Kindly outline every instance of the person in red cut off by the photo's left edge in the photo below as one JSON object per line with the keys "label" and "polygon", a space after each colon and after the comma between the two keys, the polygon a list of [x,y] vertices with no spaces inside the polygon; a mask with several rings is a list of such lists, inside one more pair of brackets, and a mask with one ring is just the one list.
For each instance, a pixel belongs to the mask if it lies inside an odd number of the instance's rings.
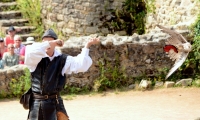
{"label": "person in red cut off by the photo's left edge", "polygon": [[3,57],[3,54],[4,52],[6,52],[7,49],[5,47],[5,44],[4,44],[4,39],[2,37],[0,37],[0,69],[3,69],[4,65],[3,65],[3,62],[2,62],[2,57]]}

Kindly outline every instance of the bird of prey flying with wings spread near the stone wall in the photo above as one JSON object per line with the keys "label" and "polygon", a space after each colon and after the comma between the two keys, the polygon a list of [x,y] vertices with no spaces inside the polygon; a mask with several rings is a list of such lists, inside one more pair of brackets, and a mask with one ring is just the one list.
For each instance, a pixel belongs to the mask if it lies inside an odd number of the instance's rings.
{"label": "bird of prey flying with wings spread near the stone wall", "polygon": [[157,25],[162,32],[170,35],[166,40],[164,51],[168,54],[168,57],[175,61],[172,68],[169,70],[165,79],[167,79],[172,73],[174,73],[186,60],[189,52],[192,50],[192,45],[178,32],[165,28],[161,25]]}

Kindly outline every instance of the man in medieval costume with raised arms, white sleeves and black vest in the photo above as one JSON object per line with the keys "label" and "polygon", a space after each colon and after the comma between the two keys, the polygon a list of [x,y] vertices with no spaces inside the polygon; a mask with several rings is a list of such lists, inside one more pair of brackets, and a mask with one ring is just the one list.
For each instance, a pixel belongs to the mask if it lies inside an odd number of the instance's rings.
{"label": "man in medieval costume with raised arms, white sleeves and black vest", "polygon": [[29,120],[69,120],[59,93],[66,83],[66,74],[85,72],[92,65],[89,47],[99,43],[90,39],[77,56],[61,54],[55,47],[63,41],[49,29],[42,36],[42,43],[26,47],[25,65],[31,72]]}

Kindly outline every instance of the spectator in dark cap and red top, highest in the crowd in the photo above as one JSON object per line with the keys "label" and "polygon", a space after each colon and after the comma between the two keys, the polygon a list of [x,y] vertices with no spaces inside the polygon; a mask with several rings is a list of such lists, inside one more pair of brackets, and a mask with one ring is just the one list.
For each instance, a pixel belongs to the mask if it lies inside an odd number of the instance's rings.
{"label": "spectator in dark cap and red top, highest in the crowd", "polygon": [[12,43],[14,44],[14,36],[16,34],[17,30],[13,27],[10,26],[7,30],[7,36],[4,38],[5,46],[8,46],[8,44]]}

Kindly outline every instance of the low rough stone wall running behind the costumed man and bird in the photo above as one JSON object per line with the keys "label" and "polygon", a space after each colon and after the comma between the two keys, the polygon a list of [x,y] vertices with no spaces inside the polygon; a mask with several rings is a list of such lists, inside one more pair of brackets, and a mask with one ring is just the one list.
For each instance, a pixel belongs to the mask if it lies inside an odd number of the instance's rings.
{"label": "low rough stone wall running behind the costumed man and bird", "polygon": [[[94,36],[96,35],[70,37],[62,48],[57,49],[65,54],[78,55],[88,39]],[[133,84],[134,78],[138,76],[159,75],[164,68],[170,68],[173,64],[163,51],[164,41],[168,37],[169,35],[159,29],[145,35],[99,36],[101,44],[90,48],[93,60],[91,68],[85,73],[67,75],[67,84],[92,87],[94,80],[100,76],[100,64],[105,66],[105,69],[114,70],[117,63],[117,69],[123,71],[130,84]],[[23,75],[24,68],[24,65],[17,65],[0,70],[0,90],[9,91],[9,82]]]}

